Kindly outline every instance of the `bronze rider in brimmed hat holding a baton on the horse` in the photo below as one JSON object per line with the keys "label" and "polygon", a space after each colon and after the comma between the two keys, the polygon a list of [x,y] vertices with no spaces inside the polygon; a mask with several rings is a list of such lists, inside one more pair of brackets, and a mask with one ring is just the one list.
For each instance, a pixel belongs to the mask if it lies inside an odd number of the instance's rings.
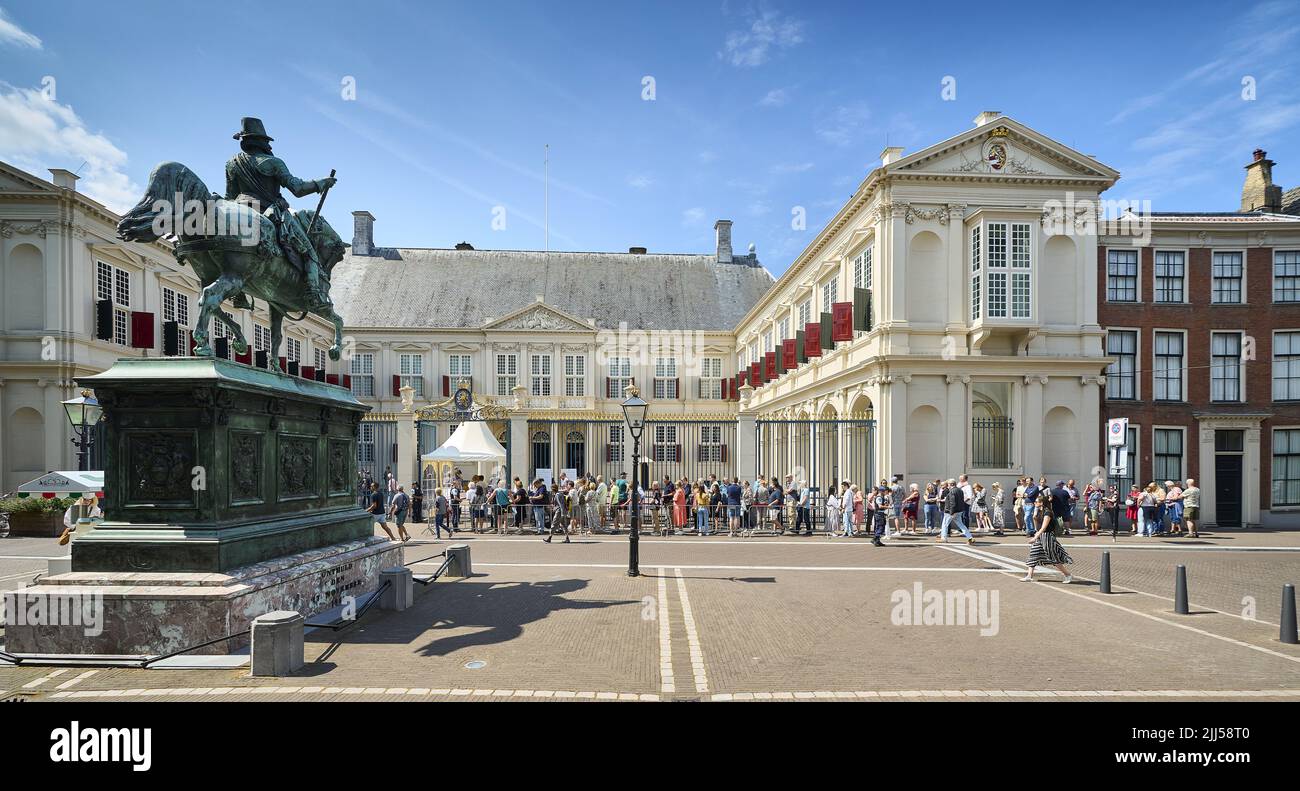
{"label": "bronze rider in brimmed hat holding a baton on the horse", "polygon": [[[285,160],[270,152],[272,137],[261,118],[242,118],[240,130],[234,134],[239,141],[239,154],[226,163],[226,200],[235,200],[257,207],[269,219],[277,233],[285,258],[307,273],[307,286],[315,308],[329,307],[329,291],[321,282],[321,264],[316,248],[307,238],[307,229],[289,211],[289,202],[281,196],[281,187],[296,198],[322,193],[334,186],[334,178],[303,181],[289,172]],[[237,307],[248,307],[247,298],[235,298]]]}

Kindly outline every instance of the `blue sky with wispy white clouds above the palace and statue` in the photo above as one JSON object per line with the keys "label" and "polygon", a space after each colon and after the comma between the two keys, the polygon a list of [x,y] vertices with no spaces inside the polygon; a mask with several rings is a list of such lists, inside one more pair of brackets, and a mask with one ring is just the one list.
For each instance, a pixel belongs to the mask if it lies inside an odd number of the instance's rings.
{"label": "blue sky with wispy white clouds above the palace and statue", "polygon": [[369,209],[382,246],[541,248],[549,143],[551,248],[705,252],[728,217],[780,273],[885,144],[983,109],[1095,155],[1123,174],[1109,198],[1156,211],[1235,209],[1256,147],[1300,185],[1291,1],[0,8],[0,159],[81,168],[121,209],[161,160],[222,190],[239,117],[260,116],[295,174],[338,169],[326,219],[350,238]]}

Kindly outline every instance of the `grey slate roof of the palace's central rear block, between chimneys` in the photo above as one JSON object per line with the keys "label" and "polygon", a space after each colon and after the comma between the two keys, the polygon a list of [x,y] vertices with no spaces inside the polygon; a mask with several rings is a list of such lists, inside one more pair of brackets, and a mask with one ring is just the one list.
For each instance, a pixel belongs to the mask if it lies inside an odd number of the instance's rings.
{"label": "grey slate roof of the palace's central rear block, between chimneys", "polygon": [[729,332],[772,288],[755,256],[530,250],[351,250],[330,276],[348,327],[478,328],[537,297],[597,329]]}

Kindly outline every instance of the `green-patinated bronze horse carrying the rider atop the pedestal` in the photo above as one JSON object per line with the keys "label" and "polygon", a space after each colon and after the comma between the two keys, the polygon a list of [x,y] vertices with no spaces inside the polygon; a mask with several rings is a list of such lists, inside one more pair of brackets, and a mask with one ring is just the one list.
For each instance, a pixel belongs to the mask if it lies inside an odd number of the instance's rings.
{"label": "green-patinated bronze horse carrying the rider atop the pedestal", "polygon": [[[313,226],[308,241],[316,248],[321,276],[328,281],[330,271],[343,260],[343,239],[316,212],[296,213]],[[334,343],[329,358],[339,359],[343,319],[332,307],[313,308],[306,273],[285,258],[276,239],[276,226],[254,207],[211,193],[194,170],[181,163],[161,163],[150,173],[144,198],[117,224],[117,237],[127,242],[152,242],[164,235],[176,238],[176,259],[188,264],[203,282],[194,324],[195,356],[213,356],[208,343],[213,319],[234,333],[235,353],[247,351],[243,330],[221,310],[221,303],[248,294],[264,299],[270,308],[268,366],[272,371],[280,371],[281,324],[290,311],[302,311],[295,321],[315,314],[332,323]]]}

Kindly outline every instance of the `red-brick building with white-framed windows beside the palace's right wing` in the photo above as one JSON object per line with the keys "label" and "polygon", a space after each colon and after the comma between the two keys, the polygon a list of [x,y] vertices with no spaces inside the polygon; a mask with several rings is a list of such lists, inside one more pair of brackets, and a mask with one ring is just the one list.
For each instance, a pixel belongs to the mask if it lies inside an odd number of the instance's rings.
{"label": "red-brick building with white-framed windows beside the palace's right wing", "polygon": [[1208,524],[1300,519],[1300,190],[1273,164],[1254,152],[1242,211],[1154,213],[1141,238],[1110,222],[1097,246],[1122,483],[1193,477]]}

